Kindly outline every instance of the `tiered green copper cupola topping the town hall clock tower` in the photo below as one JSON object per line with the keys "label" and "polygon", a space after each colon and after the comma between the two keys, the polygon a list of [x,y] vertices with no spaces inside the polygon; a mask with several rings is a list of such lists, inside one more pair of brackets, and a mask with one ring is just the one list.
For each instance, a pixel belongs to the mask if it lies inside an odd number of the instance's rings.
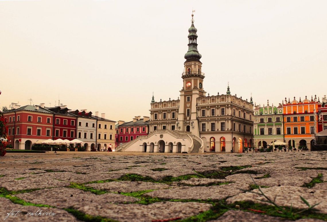
{"label": "tiered green copper cupola topping the town hall clock tower", "polygon": [[[196,61],[196,62],[200,62],[200,58],[202,57],[202,55],[199,53],[198,51],[198,44],[197,44],[197,29],[194,27],[194,19],[193,19],[193,14],[192,14],[192,25],[191,27],[188,29],[188,51],[186,52],[186,54],[184,55],[184,58],[186,59],[185,62],[192,62],[192,61]],[[201,63],[202,64],[202,63]]]}

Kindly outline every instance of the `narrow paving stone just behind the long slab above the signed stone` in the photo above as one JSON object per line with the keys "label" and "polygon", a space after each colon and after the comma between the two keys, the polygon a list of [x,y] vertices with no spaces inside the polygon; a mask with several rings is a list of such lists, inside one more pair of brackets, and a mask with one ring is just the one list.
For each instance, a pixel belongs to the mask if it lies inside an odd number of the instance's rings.
{"label": "narrow paving stone just behind the long slab above the signed stone", "polygon": [[135,192],[145,190],[168,189],[171,187],[167,184],[141,181],[113,181],[108,183],[87,184],[86,186],[93,187],[96,190],[106,190],[109,192]]}

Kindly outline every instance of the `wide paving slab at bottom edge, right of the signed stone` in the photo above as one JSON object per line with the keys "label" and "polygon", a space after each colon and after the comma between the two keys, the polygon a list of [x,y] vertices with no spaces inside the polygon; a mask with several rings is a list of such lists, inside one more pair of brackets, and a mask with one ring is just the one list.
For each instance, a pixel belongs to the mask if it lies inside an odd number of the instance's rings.
{"label": "wide paving slab at bottom edge, right of the signed stone", "polygon": [[208,211],[210,204],[182,203],[182,202],[158,202],[149,205],[142,204],[107,204],[105,206],[92,203],[77,207],[77,210],[91,215],[109,217],[118,221],[152,221],[171,218],[187,218],[197,215],[199,212]]}

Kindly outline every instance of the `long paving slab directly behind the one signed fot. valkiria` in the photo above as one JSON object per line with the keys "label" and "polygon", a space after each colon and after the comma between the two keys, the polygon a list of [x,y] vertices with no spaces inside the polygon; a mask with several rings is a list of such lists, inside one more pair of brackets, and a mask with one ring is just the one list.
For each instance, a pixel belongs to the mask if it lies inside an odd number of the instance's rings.
{"label": "long paving slab directly behind the one signed fot. valkiria", "polygon": [[135,197],[124,196],[118,193],[96,195],[91,192],[84,192],[73,188],[43,189],[29,193],[16,194],[15,196],[34,204],[47,204],[58,208],[88,205],[93,202],[104,205],[107,203],[117,204],[138,201]]}

